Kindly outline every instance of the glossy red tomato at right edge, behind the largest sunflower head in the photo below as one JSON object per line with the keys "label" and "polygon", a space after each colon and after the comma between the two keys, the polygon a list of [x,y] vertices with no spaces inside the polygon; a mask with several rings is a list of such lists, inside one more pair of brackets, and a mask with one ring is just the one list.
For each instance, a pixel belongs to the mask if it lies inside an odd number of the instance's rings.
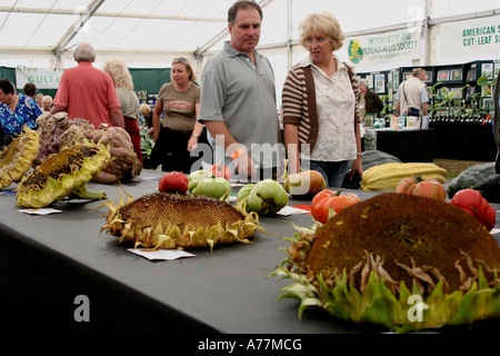
{"label": "glossy red tomato at right edge, behind the largest sunflower head", "polygon": [[497,211],[494,211],[494,208],[482,197],[479,190],[459,190],[450,202],[472,215],[484,225],[488,230],[491,230],[497,222]]}

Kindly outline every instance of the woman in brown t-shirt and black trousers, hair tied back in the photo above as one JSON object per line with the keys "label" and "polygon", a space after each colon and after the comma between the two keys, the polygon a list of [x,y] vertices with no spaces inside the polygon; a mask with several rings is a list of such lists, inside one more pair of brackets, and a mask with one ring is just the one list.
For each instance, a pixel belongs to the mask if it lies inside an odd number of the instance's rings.
{"label": "woman in brown t-shirt and black trousers, hair tied back", "polygon": [[197,120],[201,89],[194,83],[197,77],[187,58],[173,59],[170,77],[172,81],[161,87],[153,110],[151,165],[156,168],[161,164],[163,171],[189,174],[198,160],[191,151],[199,142],[208,147],[203,125]]}

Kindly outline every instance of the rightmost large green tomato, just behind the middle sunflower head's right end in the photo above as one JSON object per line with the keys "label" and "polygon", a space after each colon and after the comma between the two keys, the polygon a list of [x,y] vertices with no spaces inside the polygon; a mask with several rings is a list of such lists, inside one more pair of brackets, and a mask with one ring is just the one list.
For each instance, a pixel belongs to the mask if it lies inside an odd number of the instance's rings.
{"label": "rightmost large green tomato, just behind the middle sunflower head's right end", "polygon": [[278,181],[272,179],[259,181],[248,195],[249,209],[261,215],[274,215],[287,204],[287,191]]}

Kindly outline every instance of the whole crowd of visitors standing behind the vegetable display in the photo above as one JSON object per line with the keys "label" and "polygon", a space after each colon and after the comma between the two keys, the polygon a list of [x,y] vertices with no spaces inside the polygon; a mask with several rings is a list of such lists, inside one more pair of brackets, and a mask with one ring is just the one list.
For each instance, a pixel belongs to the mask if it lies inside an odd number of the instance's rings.
{"label": "whole crowd of visitors standing behind the vegetable display", "polygon": [[[314,169],[330,187],[340,187],[346,177],[361,177],[360,118],[368,112],[379,116],[383,105],[366,80],[358,80],[353,69],[334,53],[344,40],[339,21],[321,12],[300,23],[300,43],[308,56],[286,78],[281,136],[273,69],[256,49],[262,19],[256,1],[236,1],[228,10],[230,39],[208,60],[200,82],[187,58],[174,58],[171,81],[161,87],[153,110],[140,105],[123,60],[108,60],[102,70],[94,68],[96,51],[90,43],[77,47],[73,58],[78,66],[64,70],[53,100],[37,96],[32,85],[17,93],[3,79],[3,142],[19,135],[24,125],[34,128],[42,112],[67,111],[69,118],[86,118],[96,128],[126,129],[141,162],[140,131],[144,129],[156,142],[151,164],[153,168],[161,165],[163,171],[189,174],[201,154],[209,164],[232,167],[241,179],[276,178],[284,168],[284,154],[290,174]],[[416,70],[401,85],[398,115],[413,107],[427,113],[424,76]],[[144,118],[142,127],[140,116]]]}

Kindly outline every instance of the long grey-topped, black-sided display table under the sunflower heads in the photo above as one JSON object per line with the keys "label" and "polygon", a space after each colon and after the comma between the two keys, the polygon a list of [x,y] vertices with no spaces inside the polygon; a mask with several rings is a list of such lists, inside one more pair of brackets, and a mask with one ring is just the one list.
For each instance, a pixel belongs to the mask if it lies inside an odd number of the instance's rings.
{"label": "long grey-topped, black-sided display table under the sunflower heads", "polygon": [[[144,170],[124,184],[133,197],[158,190],[160,171]],[[153,179],[151,179],[153,178]],[[119,185],[89,184],[119,199]],[[362,199],[376,192],[356,191]],[[289,205],[310,204],[291,200]],[[379,333],[371,325],[343,323],[324,310],[298,317],[299,301],[277,301],[289,280],[268,276],[286,255],[292,222],[310,226],[309,215],[261,217],[253,244],[190,250],[196,257],[150,261],[101,231],[108,208],[100,201],[69,200],[61,214],[19,211],[14,195],[0,195],[0,328],[2,332],[102,332],[189,334]],[[499,207],[497,206],[497,209]],[[499,221],[497,220],[497,226]],[[77,322],[78,296],[89,301],[89,322]],[[498,320],[496,320],[498,328]],[[470,333],[488,327],[478,324]]]}

